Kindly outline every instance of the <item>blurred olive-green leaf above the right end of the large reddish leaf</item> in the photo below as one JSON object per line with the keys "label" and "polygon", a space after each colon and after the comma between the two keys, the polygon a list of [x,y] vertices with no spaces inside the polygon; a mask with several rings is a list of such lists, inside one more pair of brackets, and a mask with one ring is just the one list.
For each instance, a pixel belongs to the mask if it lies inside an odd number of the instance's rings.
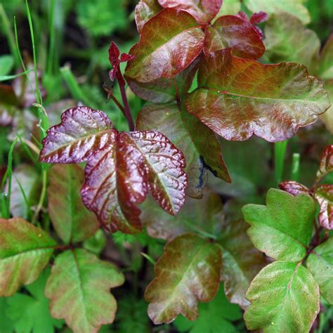
{"label": "blurred olive-green leaf above the right end of the large reddish leaf", "polygon": [[265,25],[266,55],[273,63],[294,61],[313,70],[317,60],[320,40],[313,30],[303,26],[303,22],[291,13],[270,16]]}

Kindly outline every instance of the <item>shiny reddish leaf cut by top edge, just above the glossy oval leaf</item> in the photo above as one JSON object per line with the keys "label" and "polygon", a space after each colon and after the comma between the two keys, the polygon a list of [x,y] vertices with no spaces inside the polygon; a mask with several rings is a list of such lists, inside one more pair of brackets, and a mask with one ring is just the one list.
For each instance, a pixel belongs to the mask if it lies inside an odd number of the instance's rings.
{"label": "shiny reddish leaf cut by top edge, just above the glossy oval leaf", "polygon": [[187,11],[197,22],[208,24],[220,11],[222,0],[158,0],[164,8],[176,8]]}

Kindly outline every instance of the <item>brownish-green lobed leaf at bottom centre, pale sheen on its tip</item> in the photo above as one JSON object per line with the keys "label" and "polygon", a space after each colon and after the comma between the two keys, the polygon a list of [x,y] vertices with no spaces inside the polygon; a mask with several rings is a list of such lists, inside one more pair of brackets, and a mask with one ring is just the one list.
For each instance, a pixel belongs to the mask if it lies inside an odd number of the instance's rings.
{"label": "brownish-green lobed leaf at bottom centre, pale sheen on its tip", "polygon": [[148,315],[155,324],[169,323],[182,314],[197,318],[197,302],[211,301],[220,280],[221,249],[195,235],[176,237],[166,244],[155,265],[155,279],[145,290]]}

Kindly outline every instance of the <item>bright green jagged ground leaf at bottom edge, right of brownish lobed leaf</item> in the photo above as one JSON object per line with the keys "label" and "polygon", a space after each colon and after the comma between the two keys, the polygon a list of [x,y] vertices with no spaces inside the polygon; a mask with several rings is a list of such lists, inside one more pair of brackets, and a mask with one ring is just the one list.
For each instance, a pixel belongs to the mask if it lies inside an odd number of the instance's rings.
{"label": "bright green jagged ground leaf at bottom edge, right of brownish lobed leaf", "polygon": [[178,332],[233,333],[237,332],[237,329],[231,322],[241,318],[240,308],[228,302],[221,285],[213,301],[200,303],[197,320],[192,322],[183,316],[179,316],[174,321],[174,325]]}

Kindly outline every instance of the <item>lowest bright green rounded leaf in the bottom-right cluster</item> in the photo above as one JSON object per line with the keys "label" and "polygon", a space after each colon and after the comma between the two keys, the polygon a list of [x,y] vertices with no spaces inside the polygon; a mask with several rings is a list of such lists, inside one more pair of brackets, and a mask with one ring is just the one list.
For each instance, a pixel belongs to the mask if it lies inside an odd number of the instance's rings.
{"label": "lowest bright green rounded leaf in the bottom-right cluster", "polygon": [[263,332],[309,332],[319,313],[319,288],[301,263],[275,261],[252,281],[244,314],[247,328]]}

